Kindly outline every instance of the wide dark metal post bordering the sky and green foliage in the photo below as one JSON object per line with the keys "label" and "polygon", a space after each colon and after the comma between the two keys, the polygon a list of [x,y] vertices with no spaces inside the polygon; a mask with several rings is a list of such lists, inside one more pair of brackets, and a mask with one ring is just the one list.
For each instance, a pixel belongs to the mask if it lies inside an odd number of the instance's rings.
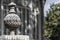
{"label": "wide dark metal post bordering the sky and green foliage", "polygon": [[38,21],[38,26],[39,26],[39,40],[44,40],[44,37],[43,37],[43,32],[44,32],[44,3],[43,3],[44,0],[39,0],[39,10],[40,10],[40,15],[39,15],[39,21]]}

